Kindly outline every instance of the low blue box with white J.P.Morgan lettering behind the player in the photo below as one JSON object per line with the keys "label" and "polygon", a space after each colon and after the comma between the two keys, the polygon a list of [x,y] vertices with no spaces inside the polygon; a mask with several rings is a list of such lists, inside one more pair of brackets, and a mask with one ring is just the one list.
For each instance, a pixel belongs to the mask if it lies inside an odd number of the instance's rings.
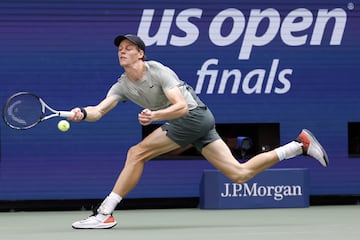
{"label": "low blue box with white J.P.Morgan lettering behind the player", "polygon": [[286,208],[309,206],[307,169],[270,169],[242,184],[217,170],[205,170],[200,207],[209,209]]}

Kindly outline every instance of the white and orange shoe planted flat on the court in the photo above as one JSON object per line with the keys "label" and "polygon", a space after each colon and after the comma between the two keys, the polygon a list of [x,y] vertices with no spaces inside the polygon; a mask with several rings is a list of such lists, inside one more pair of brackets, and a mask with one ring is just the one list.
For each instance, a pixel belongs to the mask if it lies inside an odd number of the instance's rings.
{"label": "white and orange shoe planted flat on the court", "polygon": [[117,222],[111,214],[95,213],[86,219],[74,222],[72,227],[75,229],[108,229],[116,224]]}

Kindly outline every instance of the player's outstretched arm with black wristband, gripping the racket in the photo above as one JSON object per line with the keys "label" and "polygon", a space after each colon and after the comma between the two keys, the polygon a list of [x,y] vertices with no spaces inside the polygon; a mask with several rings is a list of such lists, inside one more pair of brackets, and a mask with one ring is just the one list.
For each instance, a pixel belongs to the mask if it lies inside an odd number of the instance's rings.
{"label": "player's outstretched arm with black wristband, gripping the racket", "polygon": [[96,122],[100,120],[106,113],[108,113],[111,109],[113,109],[119,100],[114,96],[107,96],[104,100],[102,100],[96,106],[87,106],[83,108],[86,111],[86,117],[84,119],[84,111],[81,111],[81,108],[76,107],[71,111],[74,112],[74,116],[68,118],[71,121],[79,122],[81,120],[85,120],[87,122]]}

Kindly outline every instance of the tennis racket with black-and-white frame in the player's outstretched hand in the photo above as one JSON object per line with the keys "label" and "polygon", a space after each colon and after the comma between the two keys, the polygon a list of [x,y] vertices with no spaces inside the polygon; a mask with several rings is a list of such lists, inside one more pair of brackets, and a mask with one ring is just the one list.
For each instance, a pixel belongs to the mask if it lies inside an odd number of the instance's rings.
{"label": "tennis racket with black-and-white frame in the player's outstretched hand", "polygon": [[53,117],[72,117],[73,112],[57,111],[29,92],[18,92],[7,99],[2,109],[6,125],[13,129],[29,129]]}

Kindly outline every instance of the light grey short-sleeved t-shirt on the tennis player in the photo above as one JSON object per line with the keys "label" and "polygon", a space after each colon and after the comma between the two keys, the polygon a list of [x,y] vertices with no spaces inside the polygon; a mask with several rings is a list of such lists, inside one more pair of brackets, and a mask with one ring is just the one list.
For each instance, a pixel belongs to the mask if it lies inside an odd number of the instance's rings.
{"label": "light grey short-sleeved t-shirt on the tennis player", "polygon": [[110,88],[107,96],[116,96],[119,101],[131,100],[143,108],[159,110],[171,105],[165,92],[178,86],[189,109],[198,106],[187,85],[174,71],[156,61],[146,61],[145,66],[146,71],[142,79],[133,81],[123,73]]}

